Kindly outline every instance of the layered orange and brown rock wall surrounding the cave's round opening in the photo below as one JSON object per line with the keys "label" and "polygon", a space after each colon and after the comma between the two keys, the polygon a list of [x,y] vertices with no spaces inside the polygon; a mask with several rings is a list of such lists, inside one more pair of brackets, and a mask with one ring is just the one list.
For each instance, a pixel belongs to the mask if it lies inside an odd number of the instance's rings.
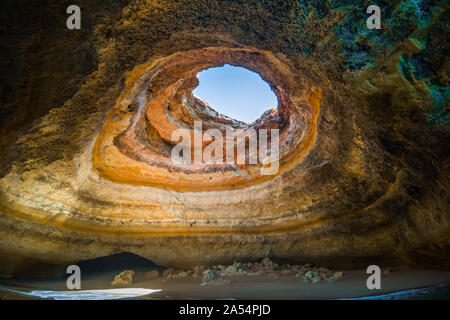
{"label": "layered orange and brown rock wall surrounding the cave's round opening", "polygon": [[[132,252],[450,266],[446,1],[2,1],[0,270]],[[247,128],[192,95],[258,72],[280,168],[174,165],[171,132]],[[230,93],[232,94],[232,93]],[[211,108],[212,107],[212,108]]]}

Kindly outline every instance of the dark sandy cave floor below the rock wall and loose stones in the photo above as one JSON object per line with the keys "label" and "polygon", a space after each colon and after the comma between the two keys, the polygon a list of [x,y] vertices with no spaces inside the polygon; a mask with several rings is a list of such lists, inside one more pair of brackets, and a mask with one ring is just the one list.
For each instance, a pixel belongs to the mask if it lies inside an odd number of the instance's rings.
{"label": "dark sandy cave floor below the rock wall and loose stones", "polygon": [[[436,286],[450,282],[450,271],[413,270],[406,267],[391,268],[391,273],[382,274],[381,289],[369,290],[365,270],[344,270],[344,276],[333,283],[301,283],[295,276],[223,276],[229,284],[201,286],[200,278],[192,276],[164,281],[161,277],[146,279],[149,269],[134,269],[132,288],[161,289],[137,299],[343,299]],[[118,272],[82,276],[82,289],[110,289],[110,282]],[[63,276],[53,279],[1,280],[0,285],[21,291],[67,290]],[[440,290],[440,289],[437,289]],[[447,289],[446,289],[447,290]],[[443,298],[448,298],[444,296]],[[0,290],[2,299],[30,299],[30,297]],[[409,297],[411,298],[411,296]],[[414,297],[413,297],[414,298]],[[442,297],[441,297],[442,298]]]}

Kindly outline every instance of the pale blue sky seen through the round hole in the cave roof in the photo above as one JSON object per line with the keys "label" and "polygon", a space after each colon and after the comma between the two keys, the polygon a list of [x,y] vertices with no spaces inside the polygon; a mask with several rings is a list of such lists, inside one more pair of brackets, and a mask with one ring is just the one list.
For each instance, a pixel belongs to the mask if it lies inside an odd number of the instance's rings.
{"label": "pale blue sky seen through the round hole in the cave roof", "polygon": [[252,122],[264,111],[277,107],[277,97],[256,72],[226,64],[203,70],[197,76],[200,84],[194,95],[236,120]]}

